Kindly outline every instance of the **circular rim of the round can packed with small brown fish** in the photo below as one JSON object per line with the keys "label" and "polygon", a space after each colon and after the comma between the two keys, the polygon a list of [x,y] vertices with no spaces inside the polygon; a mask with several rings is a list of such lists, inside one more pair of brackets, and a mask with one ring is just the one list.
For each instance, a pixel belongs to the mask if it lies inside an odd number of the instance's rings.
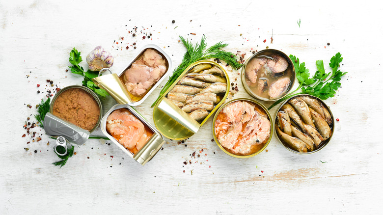
{"label": "circular rim of the round can packed with small brown fish", "polygon": [[[288,101],[290,101],[292,98],[295,98],[295,97],[297,97],[297,96],[311,96],[311,97],[313,97],[313,98],[318,99],[320,102],[322,102],[323,105],[325,105],[325,107],[328,109],[328,112],[331,114],[331,117],[332,117],[332,129],[331,129],[331,135],[330,135],[330,137],[326,140],[327,142],[326,142],[324,145],[322,145],[319,149],[316,149],[316,150],[314,150],[314,151],[312,151],[312,152],[298,152],[298,151],[295,151],[295,150],[293,150],[293,149],[287,147],[285,144],[282,143],[282,141],[279,139],[279,136],[278,136],[277,133],[276,133],[276,125],[275,125],[275,124],[276,124],[276,121],[277,121],[277,120],[276,120],[276,117],[277,117],[278,111],[280,110],[280,108],[282,108],[282,106],[283,106],[284,104],[286,104],[286,103],[287,103]],[[302,94],[293,96],[293,97],[291,97],[291,98],[289,98],[289,99],[286,99],[286,101],[284,101],[284,102],[278,107],[278,109],[277,109],[276,112],[275,112],[275,117],[274,117],[274,132],[275,132],[275,134],[276,134],[276,139],[277,139],[277,140],[279,141],[279,143],[282,144],[286,149],[288,149],[290,152],[293,152],[293,153],[295,153],[295,154],[299,154],[299,155],[311,155],[311,154],[314,154],[314,153],[319,152],[320,150],[322,150],[323,148],[325,148],[325,146],[328,145],[328,143],[330,142],[330,140],[331,140],[331,138],[332,138],[332,135],[334,135],[334,131],[335,131],[335,122],[334,122],[334,115],[332,114],[331,109],[328,107],[328,105],[327,105],[322,99],[320,99],[320,98],[318,98],[318,97],[316,97],[316,96],[310,95],[310,94],[304,94],[304,93],[302,93]]]}

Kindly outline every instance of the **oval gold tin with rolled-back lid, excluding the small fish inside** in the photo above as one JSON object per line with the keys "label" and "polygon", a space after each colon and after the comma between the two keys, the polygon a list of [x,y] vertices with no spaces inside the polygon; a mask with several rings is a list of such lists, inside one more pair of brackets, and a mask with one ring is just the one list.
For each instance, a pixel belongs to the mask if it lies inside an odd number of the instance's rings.
{"label": "oval gold tin with rolled-back lid, excluding the small fish inside", "polygon": [[[213,67],[218,67],[219,70],[222,71],[223,79],[226,81],[226,86],[224,86],[226,91],[220,94],[217,98],[217,104],[211,109],[210,113],[208,113],[208,115],[201,122],[197,122],[188,113],[173,104],[170,99],[166,98],[166,96],[173,90],[182,78],[184,78],[188,73],[191,74],[194,69],[197,70],[198,68],[199,71],[205,71],[204,69],[207,70]],[[164,92],[164,95],[155,104],[153,109],[153,119],[156,128],[161,132],[161,134],[171,140],[186,139],[197,133],[199,128],[205,124],[205,122],[214,114],[214,111],[216,111],[226,100],[229,95],[229,83],[230,80],[225,69],[223,69],[218,63],[211,60],[201,60],[192,63]]]}

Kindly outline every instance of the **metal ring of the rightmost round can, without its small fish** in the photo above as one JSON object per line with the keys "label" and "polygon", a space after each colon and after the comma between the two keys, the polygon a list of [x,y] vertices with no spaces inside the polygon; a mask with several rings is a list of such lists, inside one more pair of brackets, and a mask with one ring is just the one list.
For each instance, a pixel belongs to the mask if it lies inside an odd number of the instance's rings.
{"label": "metal ring of the rightmost round can, without its small fish", "polygon": [[[288,103],[291,99],[293,98],[296,98],[298,96],[308,96],[308,97],[311,97],[311,98],[314,98],[314,99],[317,99],[319,102],[322,103],[322,105],[328,109],[328,112],[330,113],[331,115],[331,119],[332,119],[332,124],[330,125],[330,129],[331,129],[331,135],[328,139],[324,140],[323,143],[321,143],[320,147],[318,149],[315,149],[314,151],[311,151],[311,152],[298,152],[294,149],[292,149],[291,147],[289,147],[288,144],[284,143],[278,136],[277,132],[276,132],[276,126],[278,126],[278,120],[277,120],[277,114],[279,112],[279,110],[282,108],[283,105],[285,105],[286,103]],[[293,96],[291,98],[289,98],[288,100],[284,101],[278,108],[278,110],[275,112],[275,117],[274,117],[274,132],[275,132],[275,135],[276,135],[276,138],[278,139],[278,141],[280,142],[280,144],[282,144],[286,149],[288,149],[290,152],[294,152],[296,154],[300,154],[300,155],[310,155],[310,154],[314,154],[320,150],[322,150],[325,146],[328,145],[328,142],[330,141],[332,135],[334,134],[334,131],[335,131],[335,123],[334,123],[334,116],[330,110],[330,108],[328,108],[328,106],[326,105],[326,103],[324,103],[320,98],[318,97],[315,97],[315,96],[312,96],[312,95],[309,95],[309,94],[300,94],[300,95],[297,95],[297,96]]]}

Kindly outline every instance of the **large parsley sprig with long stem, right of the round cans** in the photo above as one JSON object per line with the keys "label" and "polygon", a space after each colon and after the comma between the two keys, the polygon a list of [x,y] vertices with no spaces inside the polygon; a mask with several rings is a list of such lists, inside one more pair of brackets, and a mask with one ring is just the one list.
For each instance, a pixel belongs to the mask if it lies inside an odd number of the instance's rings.
{"label": "large parsley sprig with long stem, right of the round cans", "polygon": [[[340,63],[343,60],[343,57],[340,53],[337,53],[335,56],[331,57],[330,63],[328,65],[332,68],[332,71],[329,73],[326,73],[325,71],[323,60],[317,60],[317,71],[311,78],[309,70],[305,67],[306,65],[304,62],[300,64],[299,58],[291,54],[290,58],[294,64],[299,86],[293,92],[276,101],[272,106],[270,106],[270,108],[268,108],[269,110],[280,102],[299,94],[313,95],[322,100],[334,97],[336,90],[338,90],[341,85],[340,80],[342,76],[347,74],[347,72],[342,72],[339,70]],[[301,89],[301,92],[295,93],[299,89]]]}

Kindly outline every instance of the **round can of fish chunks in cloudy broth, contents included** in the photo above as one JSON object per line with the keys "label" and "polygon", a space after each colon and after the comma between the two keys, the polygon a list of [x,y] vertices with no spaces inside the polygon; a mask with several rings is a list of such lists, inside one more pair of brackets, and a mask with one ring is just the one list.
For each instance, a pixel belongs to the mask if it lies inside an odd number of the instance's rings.
{"label": "round can of fish chunks in cloudy broth, contents included", "polygon": [[252,97],[262,101],[276,101],[293,88],[294,64],[287,54],[279,50],[261,50],[246,60],[242,67],[241,80],[246,92]]}

